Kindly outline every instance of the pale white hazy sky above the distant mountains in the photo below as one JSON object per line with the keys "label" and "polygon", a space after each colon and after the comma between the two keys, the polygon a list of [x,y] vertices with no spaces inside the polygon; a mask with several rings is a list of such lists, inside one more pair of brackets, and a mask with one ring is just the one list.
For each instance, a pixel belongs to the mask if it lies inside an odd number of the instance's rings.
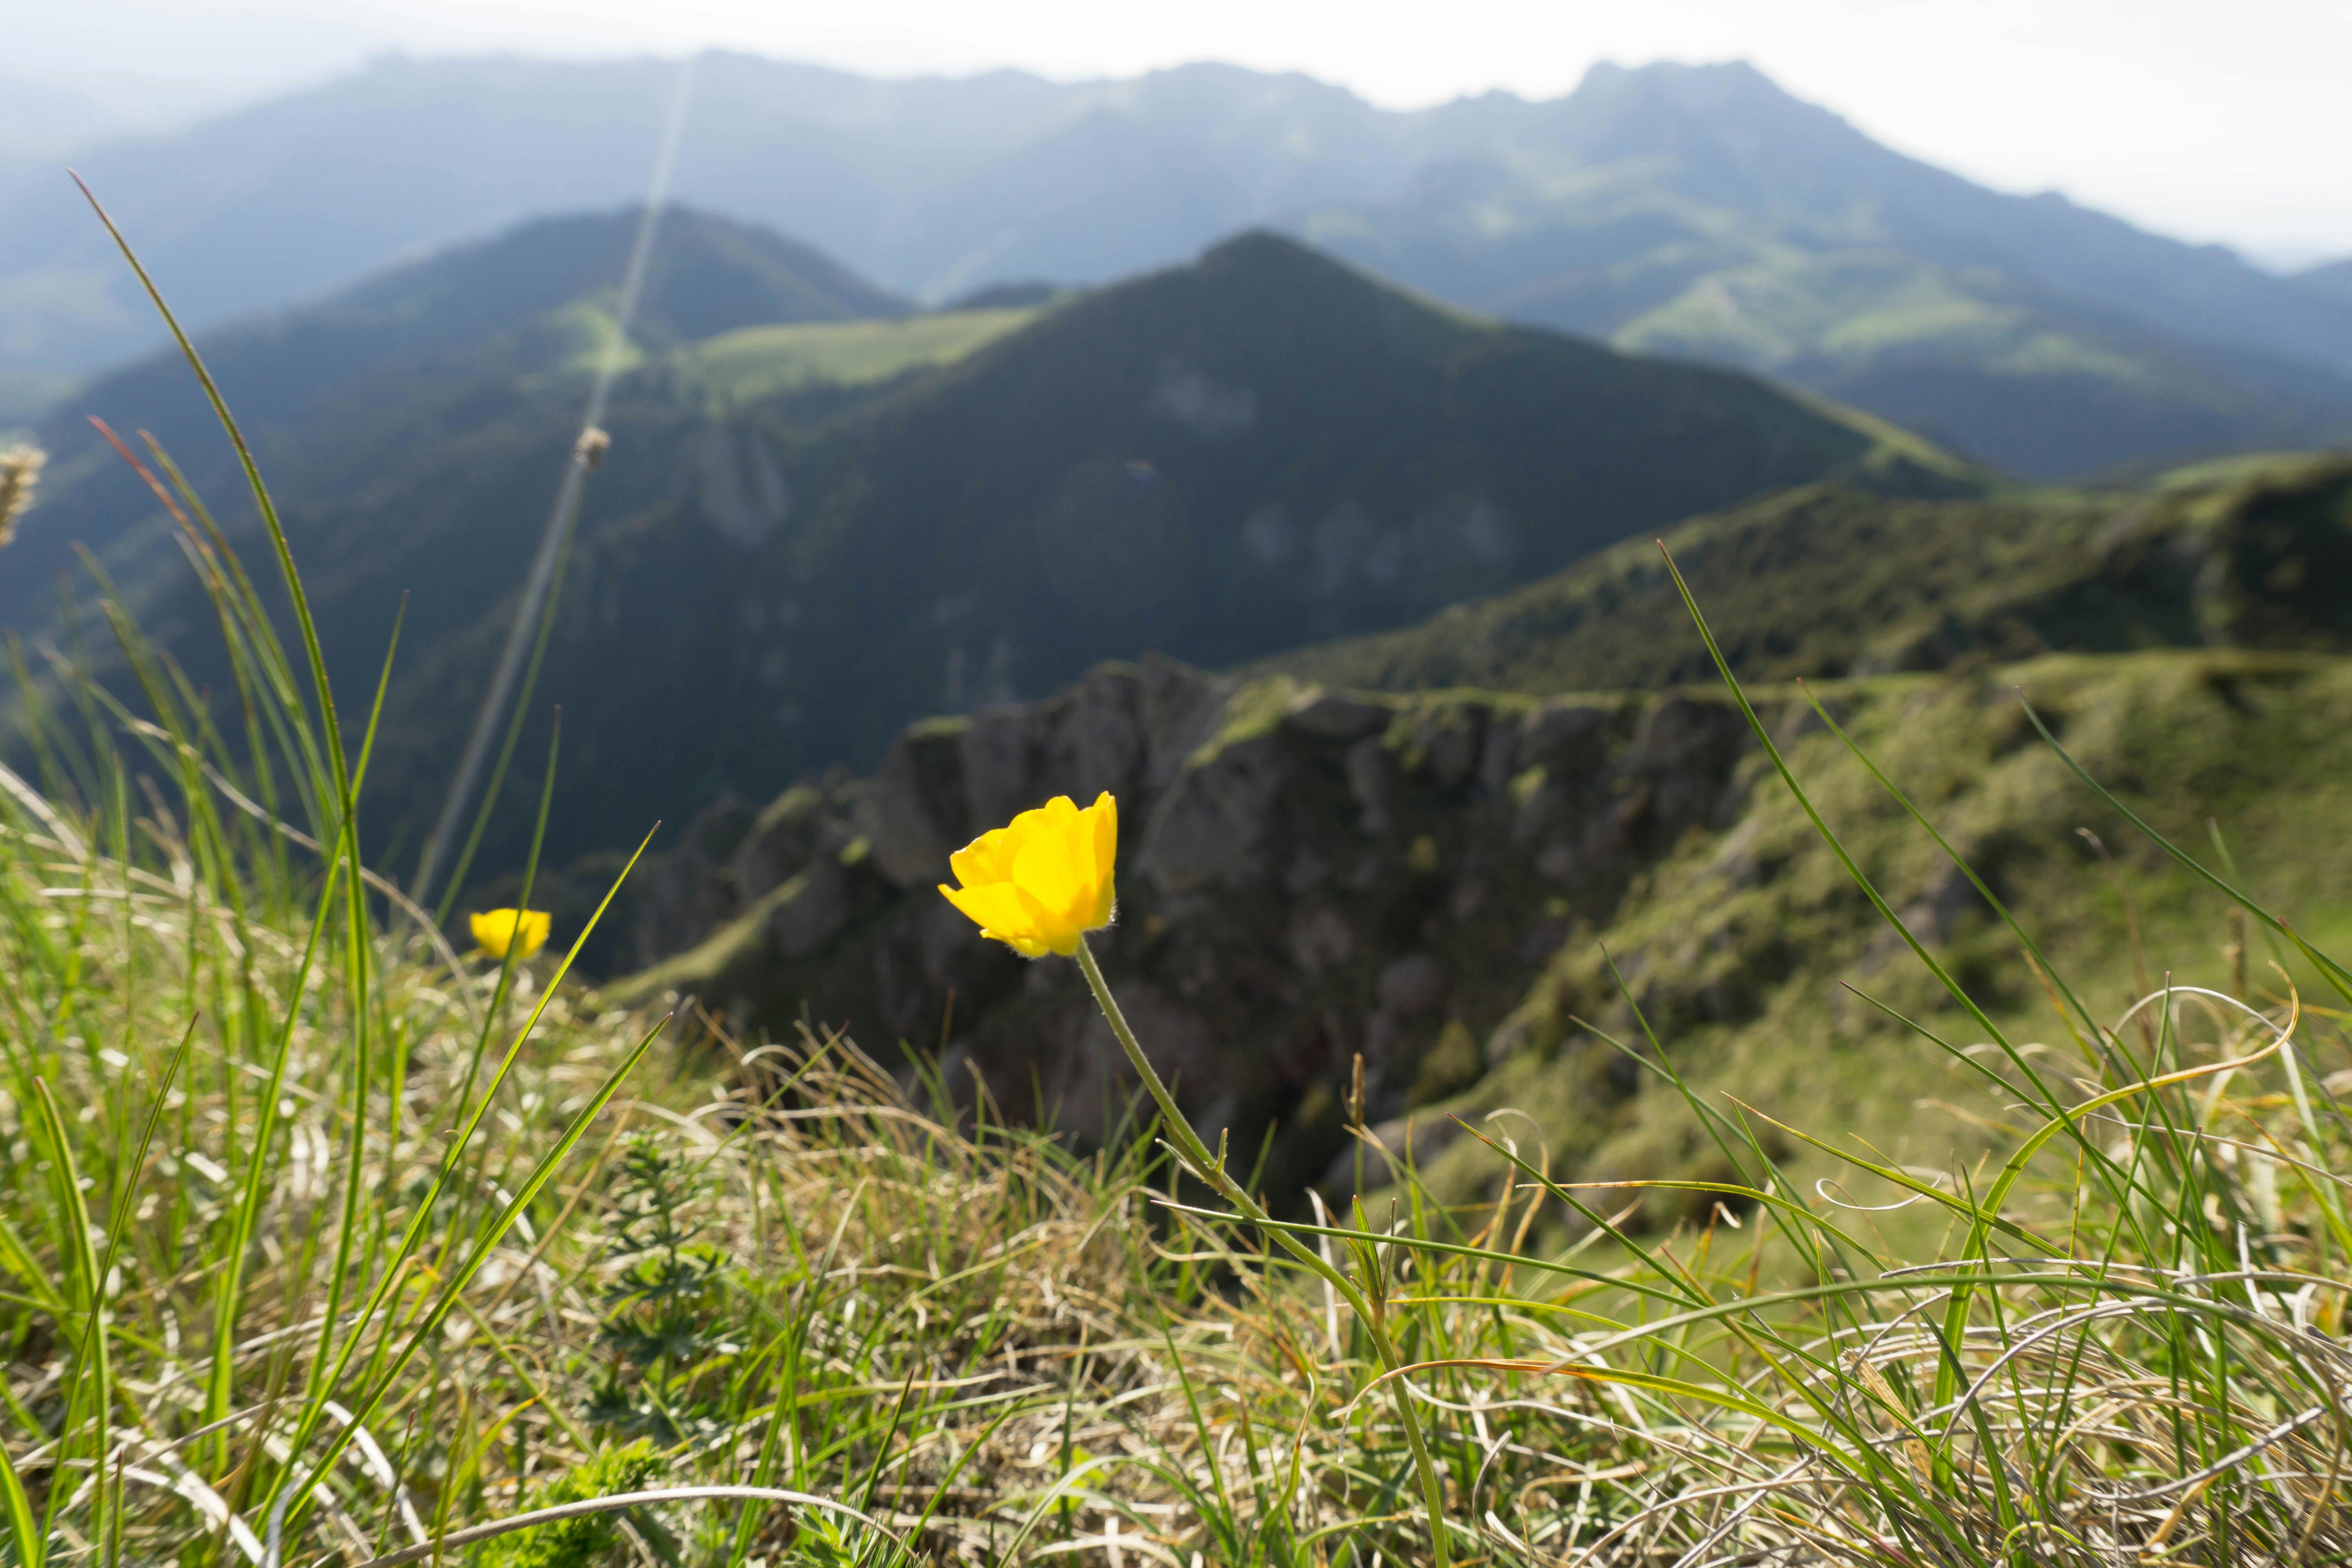
{"label": "pale white hazy sky above the distant mountains", "polygon": [[[2272,261],[2352,254],[2352,0],[0,0],[0,73],[181,115],[383,49],[1308,71],[1388,106],[1752,59],[1905,153]],[[7,101],[0,89],[0,129]]]}

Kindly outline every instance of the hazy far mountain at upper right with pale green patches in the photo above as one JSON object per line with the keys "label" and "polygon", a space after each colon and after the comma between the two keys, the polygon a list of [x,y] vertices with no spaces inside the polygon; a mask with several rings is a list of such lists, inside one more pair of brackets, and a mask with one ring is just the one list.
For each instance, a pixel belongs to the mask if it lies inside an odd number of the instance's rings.
{"label": "hazy far mountain at upper right with pale green patches", "polygon": [[[1773,374],[2037,477],[2352,433],[2340,303],[1973,186],[1745,63],[1597,66],[1414,202],[1303,233],[1444,299]],[[1884,277],[1856,287],[1856,266]]]}

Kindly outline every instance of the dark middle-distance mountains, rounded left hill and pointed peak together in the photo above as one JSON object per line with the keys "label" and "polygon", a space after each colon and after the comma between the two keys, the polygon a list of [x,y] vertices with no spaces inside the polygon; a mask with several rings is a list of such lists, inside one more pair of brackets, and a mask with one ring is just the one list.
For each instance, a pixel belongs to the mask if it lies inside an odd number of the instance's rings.
{"label": "dark middle-distance mountains, rounded left hill and pointed peak together", "polygon": [[[409,842],[513,616],[633,230],[529,223],[207,334],[343,682],[372,679],[407,595],[372,788]],[[1103,658],[1221,665],[1404,625],[1813,480],[1983,484],[1750,376],[1465,317],[1263,233],[1056,306],[906,310],[795,242],[666,216],[534,703],[569,715],[557,846],[873,762],[913,719]],[[64,639],[45,602],[89,548],[226,689],[160,508],[85,411],[155,430],[249,515],[183,367],[108,376],[40,433],[56,461],[0,621]]]}

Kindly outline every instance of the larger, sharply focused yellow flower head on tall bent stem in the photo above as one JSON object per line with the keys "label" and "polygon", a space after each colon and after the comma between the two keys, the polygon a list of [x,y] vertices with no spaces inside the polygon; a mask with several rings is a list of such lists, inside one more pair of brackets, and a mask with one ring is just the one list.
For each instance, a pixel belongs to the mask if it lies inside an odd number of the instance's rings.
{"label": "larger, sharply focused yellow flower head on tall bent stem", "polygon": [[964,886],[941,882],[938,891],[978,922],[981,936],[1030,959],[1070,957],[1080,936],[1110,924],[1117,853],[1120,806],[1108,790],[1084,811],[1056,795],[948,856]]}

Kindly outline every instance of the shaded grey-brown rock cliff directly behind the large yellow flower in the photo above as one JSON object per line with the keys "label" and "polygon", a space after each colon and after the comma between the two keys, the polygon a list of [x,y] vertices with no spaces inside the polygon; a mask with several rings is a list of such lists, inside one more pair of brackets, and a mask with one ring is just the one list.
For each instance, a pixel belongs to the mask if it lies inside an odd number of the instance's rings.
{"label": "shaded grey-brown rock cliff directly behind the large yellow flower", "polygon": [[1458,1091],[1552,950],[1738,809],[1748,731],[1689,696],[1371,698],[1174,663],[1105,665],[1035,705],[906,731],[873,778],[699,820],[640,903],[614,987],[746,1032],[842,1025],[936,1063],[990,1114],[1108,1135],[1129,1081],[1075,964],[955,912],[948,853],[1054,795],[1120,802],[1120,917],[1094,938],[1155,1065],[1214,1143],[1296,1190],[1367,1119]]}

